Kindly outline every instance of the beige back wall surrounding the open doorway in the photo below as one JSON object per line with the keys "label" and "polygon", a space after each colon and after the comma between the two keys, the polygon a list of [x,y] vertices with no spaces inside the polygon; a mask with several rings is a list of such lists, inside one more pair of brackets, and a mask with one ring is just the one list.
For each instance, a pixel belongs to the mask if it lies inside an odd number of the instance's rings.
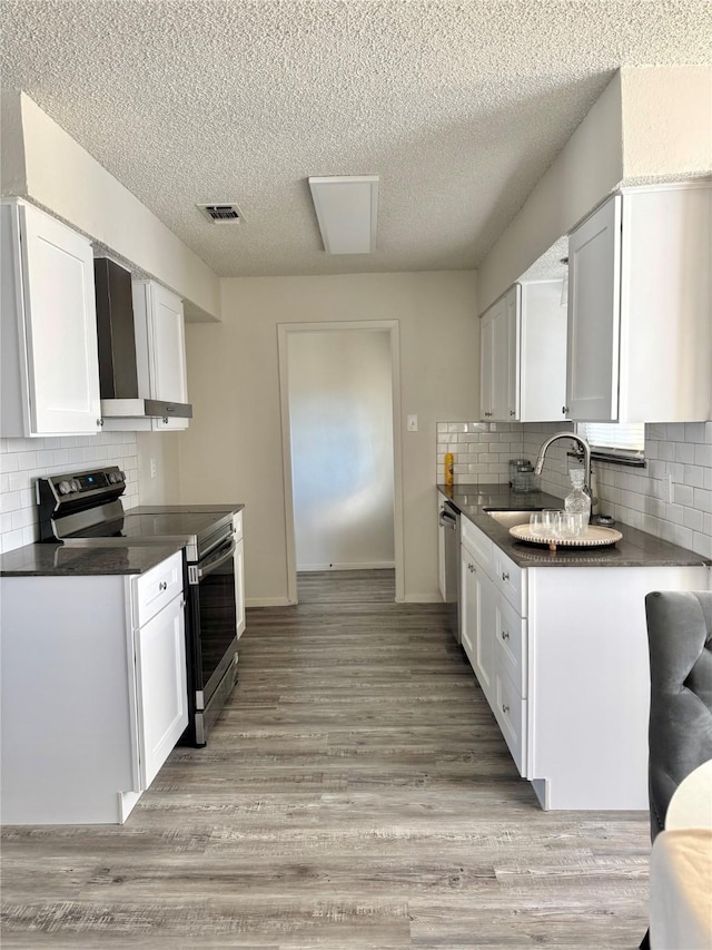
{"label": "beige back wall surrounding the open doorway", "polygon": [[[437,597],[435,427],[477,411],[469,272],[221,282],[221,324],[187,330],[195,421],[180,439],[181,501],[241,501],[248,603],[287,598],[277,324],[397,320],[406,599]],[[418,432],[405,431],[417,413]]]}

